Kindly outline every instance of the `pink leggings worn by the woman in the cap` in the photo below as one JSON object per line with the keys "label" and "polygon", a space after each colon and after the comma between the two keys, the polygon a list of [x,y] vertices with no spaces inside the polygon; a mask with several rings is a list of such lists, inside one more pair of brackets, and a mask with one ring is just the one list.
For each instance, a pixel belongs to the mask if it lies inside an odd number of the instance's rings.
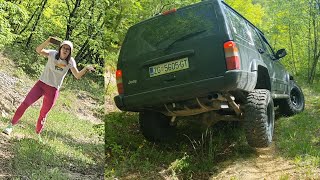
{"label": "pink leggings worn by the woman in the cap", "polygon": [[59,91],[57,90],[57,88],[51,87],[41,81],[38,81],[30,90],[30,92],[28,93],[24,101],[21,103],[21,105],[18,107],[16,113],[12,118],[12,121],[11,121],[12,125],[15,125],[18,123],[23,113],[26,111],[26,109],[30,105],[36,102],[41,96],[44,96],[42,107],[40,110],[40,115],[39,115],[37,126],[36,126],[36,133],[40,134],[42,131],[43,125],[45,123],[47,114],[55,104],[58,98],[58,95],[59,95]]}

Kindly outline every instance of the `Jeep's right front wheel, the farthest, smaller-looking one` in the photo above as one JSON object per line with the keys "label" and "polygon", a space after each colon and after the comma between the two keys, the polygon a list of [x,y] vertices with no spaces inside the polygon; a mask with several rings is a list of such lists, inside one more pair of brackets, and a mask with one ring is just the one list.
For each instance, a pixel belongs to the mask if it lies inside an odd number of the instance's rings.
{"label": "Jeep's right front wheel, the farthest, smaller-looking one", "polygon": [[279,101],[279,111],[285,116],[292,116],[304,110],[304,95],[301,88],[293,81],[290,82],[289,98]]}

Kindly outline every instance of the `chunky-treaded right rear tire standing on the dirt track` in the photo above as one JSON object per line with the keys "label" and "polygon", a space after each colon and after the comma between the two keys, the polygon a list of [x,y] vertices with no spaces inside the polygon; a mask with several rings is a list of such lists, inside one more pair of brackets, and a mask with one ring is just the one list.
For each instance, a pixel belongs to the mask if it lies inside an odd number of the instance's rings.
{"label": "chunky-treaded right rear tire standing on the dirt track", "polygon": [[255,89],[247,96],[244,107],[244,128],[251,147],[268,147],[274,130],[274,105],[270,91]]}

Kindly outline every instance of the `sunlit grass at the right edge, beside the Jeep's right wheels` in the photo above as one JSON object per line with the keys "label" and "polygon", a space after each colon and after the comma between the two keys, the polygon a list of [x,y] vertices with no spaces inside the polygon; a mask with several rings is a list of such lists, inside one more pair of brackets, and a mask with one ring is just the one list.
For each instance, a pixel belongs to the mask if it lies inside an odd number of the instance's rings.
{"label": "sunlit grass at the right edge, beside the Jeep's right wheels", "polygon": [[301,114],[280,118],[276,124],[281,154],[298,165],[320,166],[320,86],[304,86],[306,108]]}

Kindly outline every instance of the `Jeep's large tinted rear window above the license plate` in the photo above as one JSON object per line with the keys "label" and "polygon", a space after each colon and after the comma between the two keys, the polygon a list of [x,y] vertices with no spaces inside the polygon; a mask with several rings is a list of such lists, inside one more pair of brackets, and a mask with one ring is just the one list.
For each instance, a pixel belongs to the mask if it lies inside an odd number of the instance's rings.
{"label": "Jeep's large tinted rear window above the license plate", "polygon": [[169,15],[159,15],[132,26],[122,46],[121,55],[134,59],[168,46],[213,34],[215,13],[212,4],[199,3]]}

